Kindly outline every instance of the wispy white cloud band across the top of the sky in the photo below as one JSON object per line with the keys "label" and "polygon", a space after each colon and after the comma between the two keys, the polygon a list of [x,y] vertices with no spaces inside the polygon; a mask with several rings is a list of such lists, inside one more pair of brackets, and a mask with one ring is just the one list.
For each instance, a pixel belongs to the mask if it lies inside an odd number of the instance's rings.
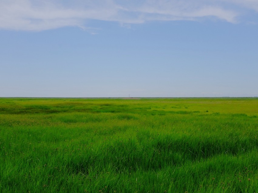
{"label": "wispy white cloud band across the top of the sky", "polygon": [[94,34],[95,29],[85,26],[87,20],[130,26],[212,17],[234,23],[242,9],[258,11],[257,0],[0,0],[0,29],[42,31],[77,26]]}

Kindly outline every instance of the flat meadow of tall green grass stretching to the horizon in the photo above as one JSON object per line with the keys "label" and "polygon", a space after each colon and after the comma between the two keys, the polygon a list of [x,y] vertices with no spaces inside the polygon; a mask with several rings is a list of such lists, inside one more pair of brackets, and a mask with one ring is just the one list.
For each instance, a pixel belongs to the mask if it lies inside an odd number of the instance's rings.
{"label": "flat meadow of tall green grass stretching to the horizon", "polygon": [[0,192],[258,192],[257,131],[257,98],[0,98]]}

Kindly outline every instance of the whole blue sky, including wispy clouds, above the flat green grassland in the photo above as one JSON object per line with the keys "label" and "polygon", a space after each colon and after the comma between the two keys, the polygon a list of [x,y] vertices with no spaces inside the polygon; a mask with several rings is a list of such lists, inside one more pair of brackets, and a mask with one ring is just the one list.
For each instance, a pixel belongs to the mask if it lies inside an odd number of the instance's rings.
{"label": "whole blue sky, including wispy clouds, above the flat green grassland", "polygon": [[257,0],[0,0],[0,97],[254,97],[257,34]]}

